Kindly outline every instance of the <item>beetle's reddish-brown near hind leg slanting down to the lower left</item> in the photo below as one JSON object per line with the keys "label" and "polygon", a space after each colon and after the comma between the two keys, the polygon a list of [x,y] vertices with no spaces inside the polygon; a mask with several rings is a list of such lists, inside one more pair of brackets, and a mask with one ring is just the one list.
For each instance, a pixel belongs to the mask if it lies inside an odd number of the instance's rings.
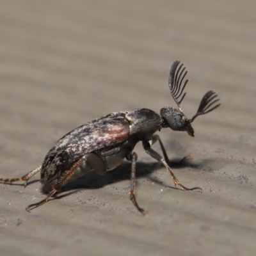
{"label": "beetle's reddish-brown near hind leg slanting down to the lower left", "polygon": [[73,166],[68,170],[68,172],[63,176],[58,179],[57,184],[52,188],[52,191],[47,195],[44,200],[36,203],[36,204],[30,204],[28,207],[26,207],[26,211],[30,212],[30,210],[35,209],[36,207],[39,207],[40,205],[43,205],[49,201],[49,198],[53,196],[54,194],[58,193],[61,191],[61,187],[67,183],[67,181],[72,177],[74,172],[76,172],[76,169],[79,167],[79,165],[84,161],[84,158],[82,157],[79,159]]}

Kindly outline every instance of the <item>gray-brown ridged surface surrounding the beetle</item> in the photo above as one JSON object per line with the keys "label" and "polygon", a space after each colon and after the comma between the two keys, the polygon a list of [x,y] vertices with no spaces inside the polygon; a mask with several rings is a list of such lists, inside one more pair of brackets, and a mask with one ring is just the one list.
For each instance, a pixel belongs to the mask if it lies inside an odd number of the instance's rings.
{"label": "gray-brown ridged surface surrounding the beetle", "polygon": [[[40,164],[63,134],[113,111],[175,106],[168,69],[186,63],[182,104],[191,117],[215,90],[221,108],[199,117],[195,138],[161,131],[170,174],[138,153],[130,164],[42,200],[39,175],[24,189],[0,184],[1,255],[254,255],[256,241],[255,1],[1,1],[0,177]],[[154,146],[159,150],[159,146]]]}

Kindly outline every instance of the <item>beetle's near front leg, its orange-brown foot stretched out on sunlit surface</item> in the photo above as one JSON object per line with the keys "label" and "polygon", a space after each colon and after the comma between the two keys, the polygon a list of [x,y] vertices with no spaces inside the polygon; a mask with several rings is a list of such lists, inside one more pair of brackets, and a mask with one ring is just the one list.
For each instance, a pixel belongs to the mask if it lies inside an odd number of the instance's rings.
{"label": "beetle's near front leg, its orange-brown foot stretched out on sunlit surface", "polygon": [[[154,149],[151,148],[151,145],[156,142],[156,141],[159,141],[159,144],[160,144],[160,147],[162,149],[162,152],[163,152],[163,156],[161,156],[160,154],[158,154]],[[193,191],[193,190],[200,190],[200,192],[202,193],[202,188],[200,187],[195,187],[195,188],[186,188],[185,186],[183,186],[182,184],[180,184],[179,180],[175,177],[174,173],[172,172],[170,166],[168,165],[168,156],[166,154],[166,150],[163,146],[163,143],[161,141],[161,139],[159,138],[158,135],[154,135],[152,137],[152,140],[150,141],[143,141],[143,147],[145,149],[145,151],[147,152],[148,155],[152,156],[154,159],[156,159],[157,161],[161,162],[164,164],[164,166],[166,167],[166,169],[170,172],[170,175],[172,176],[172,179],[173,179],[173,182],[175,184],[175,187],[176,186],[180,186],[180,188],[182,188],[183,190],[185,191]]]}

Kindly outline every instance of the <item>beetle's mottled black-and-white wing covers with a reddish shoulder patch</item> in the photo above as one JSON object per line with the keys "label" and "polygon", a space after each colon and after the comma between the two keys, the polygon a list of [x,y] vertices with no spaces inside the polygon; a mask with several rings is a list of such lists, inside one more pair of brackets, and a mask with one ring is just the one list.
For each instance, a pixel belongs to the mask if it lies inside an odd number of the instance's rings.
{"label": "beetle's mottled black-and-white wing covers with a reddish shoulder patch", "polygon": [[55,179],[86,154],[127,141],[130,123],[125,115],[125,112],[111,113],[68,132],[45,156],[41,182]]}

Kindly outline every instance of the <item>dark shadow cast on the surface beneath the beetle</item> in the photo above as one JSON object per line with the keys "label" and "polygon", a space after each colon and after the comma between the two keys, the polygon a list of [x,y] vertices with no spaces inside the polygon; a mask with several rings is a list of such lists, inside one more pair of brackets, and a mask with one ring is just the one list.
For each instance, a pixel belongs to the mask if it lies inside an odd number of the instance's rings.
{"label": "dark shadow cast on the surface beneath the beetle", "polygon": [[[180,159],[172,159],[170,161],[170,167],[172,170],[177,170],[185,167],[193,168],[193,170],[199,170],[207,164],[211,160],[205,160],[201,163],[193,163],[193,161],[189,159],[185,159],[184,161],[180,162]],[[168,188],[173,189],[179,189],[175,188],[174,186],[171,186],[172,183],[172,177],[170,176],[170,180],[168,180],[167,183],[157,179],[157,177],[152,176],[151,174],[154,173],[157,169],[163,168],[163,165],[158,162],[136,162],[136,178],[141,177],[147,177],[147,179],[151,180],[152,182],[155,182],[156,184],[160,184],[161,186],[166,186]],[[168,172],[166,170],[166,172]],[[122,180],[129,181],[131,179],[131,163],[130,162],[124,162],[122,163],[118,168],[111,172],[107,172],[106,175],[98,175],[95,172],[86,173],[83,177],[80,177],[79,179],[73,180],[72,182],[69,182],[63,188],[61,189],[62,192],[68,192],[65,193],[65,195],[58,195],[57,198],[61,198],[66,195],[70,195],[72,193],[75,193],[80,189],[99,189],[103,188],[106,185],[114,184],[115,182],[119,182]],[[129,184],[129,183],[128,183]],[[71,191],[74,190],[75,191]]]}

